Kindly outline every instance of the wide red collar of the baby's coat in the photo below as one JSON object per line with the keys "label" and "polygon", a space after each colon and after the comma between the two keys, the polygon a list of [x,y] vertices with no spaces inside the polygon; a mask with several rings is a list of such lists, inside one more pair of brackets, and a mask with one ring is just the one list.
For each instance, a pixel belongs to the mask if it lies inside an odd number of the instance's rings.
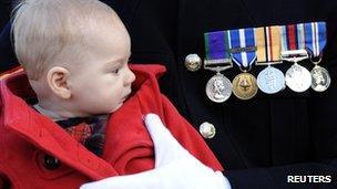
{"label": "wide red collar of the baby's coat", "polygon": [[[139,90],[146,80],[155,80],[165,72],[165,67],[160,65],[134,64],[131,70],[136,75],[134,90]],[[0,122],[4,127],[93,180],[118,175],[109,162],[86,150],[54,122],[27,105],[23,98],[35,94],[23,72],[3,78],[0,82],[0,95],[3,113]]]}

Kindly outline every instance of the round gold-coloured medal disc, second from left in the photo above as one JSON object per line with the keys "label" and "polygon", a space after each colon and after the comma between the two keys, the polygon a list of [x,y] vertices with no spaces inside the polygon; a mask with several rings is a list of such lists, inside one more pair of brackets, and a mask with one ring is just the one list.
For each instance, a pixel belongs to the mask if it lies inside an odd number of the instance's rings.
{"label": "round gold-coloured medal disc, second from left", "polygon": [[233,93],[239,99],[251,99],[257,93],[257,84],[254,75],[241,73],[232,82]]}

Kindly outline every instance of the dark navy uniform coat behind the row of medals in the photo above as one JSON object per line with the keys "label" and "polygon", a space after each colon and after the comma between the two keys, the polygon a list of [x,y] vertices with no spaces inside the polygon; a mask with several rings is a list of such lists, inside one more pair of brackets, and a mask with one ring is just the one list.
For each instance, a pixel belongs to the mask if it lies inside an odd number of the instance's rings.
{"label": "dark navy uniform coat behind the row of medals", "polygon": [[[236,188],[336,188],[337,185],[337,1],[334,0],[120,0],[114,7],[132,39],[132,62],[162,63],[163,92],[198,129],[216,127],[206,139]],[[234,95],[211,102],[205,85],[214,73],[190,72],[190,53],[204,57],[203,33],[228,29],[326,21],[328,39],[321,66],[328,69],[327,92],[289,88],[249,101]],[[310,62],[302,65],[313,67]],[[284,73],[290,63],[276,65]],[[257,76],[264,66],[255,66]],[[233,80],[237,67],[225,71]],[[287,183],[287,176],[331,176],[331,183]]]}

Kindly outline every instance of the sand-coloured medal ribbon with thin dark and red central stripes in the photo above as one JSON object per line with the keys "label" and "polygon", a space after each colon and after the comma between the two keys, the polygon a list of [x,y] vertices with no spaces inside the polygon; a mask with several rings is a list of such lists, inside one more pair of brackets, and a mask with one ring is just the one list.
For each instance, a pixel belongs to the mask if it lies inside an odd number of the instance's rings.
{"label": "sand-coloured medal ribbon with thin dark and red central stripes", "polygon": [[256,64],[280,62],[280,27],[261,27],[255,29]]}

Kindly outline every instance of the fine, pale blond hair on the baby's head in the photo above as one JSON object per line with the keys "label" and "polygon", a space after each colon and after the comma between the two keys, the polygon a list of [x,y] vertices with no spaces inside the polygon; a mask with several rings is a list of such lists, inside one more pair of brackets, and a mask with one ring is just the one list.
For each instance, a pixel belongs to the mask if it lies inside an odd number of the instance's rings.
{"label": "fine, pale blond hair on the baby's head", "polygon": [[23,0],[12,13],[13,46],[30,80],[39,80],[54,65],[74,63],[85,33],[98,22],[119,20],[98,0]]}

